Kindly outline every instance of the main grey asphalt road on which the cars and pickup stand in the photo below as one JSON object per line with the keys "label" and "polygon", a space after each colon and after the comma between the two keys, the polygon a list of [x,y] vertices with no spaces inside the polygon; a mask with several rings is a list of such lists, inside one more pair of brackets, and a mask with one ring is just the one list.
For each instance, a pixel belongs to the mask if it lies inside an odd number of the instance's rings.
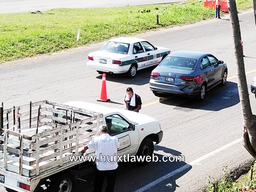
{"label": "main grey asphalt road on which the cars and pickup stand", "polygon": [[[253,11],[239,14],[244,43],[244,60],[248,88],[255,66],[255,23]],[[239,103],[234,52],[229,16],[205,20],[188,26],[163,29],[137,35],[154,45],[171,50],[210,52],[228,66],[228,82],[207,92],[204,102],[180,97],[162,100],[148,87],[152,69],[138,72],[135,79],[106,75],[110,102],[96,101],[101,75],[86,67],[89,52],[103,43],[71,49],[51,56],[38,56],[0,66],[0,101],[5,108],[30,101],[49,99],[58,102],[81,100],[113,108],[123,108],[127,87],[142,98],[140,113],[161,122],[163,140],[155,146],[155,154],[183,155],[185,162],[154,162],[145,166],[133,163],[119,165],[116,191],[202,191],[208,176],[219,178],[223,166],[236,168],[252,157],[242,146],[242,115]],[[250,93],[253,114],[256,99]],[[77,191],[91,191],[94,173],[82,178]],[[142,188],[144,187],[144,188]],[[5,191],[0,187],[0,192]]]}

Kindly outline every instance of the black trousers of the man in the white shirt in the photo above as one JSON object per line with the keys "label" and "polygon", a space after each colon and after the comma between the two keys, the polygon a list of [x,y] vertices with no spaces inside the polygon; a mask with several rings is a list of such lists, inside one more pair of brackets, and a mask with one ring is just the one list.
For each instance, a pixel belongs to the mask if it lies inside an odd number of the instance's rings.
{"label": "black trousers of the man in the white shirt", "polygon": [[105,188],[105,192],[113,192],[115,181],[116,181],[116,169],[114,170],[98,170],[96,172],[96,178],[94,182],[94,192],[101,192],[104,178],[106,176],[106,180],[108,185]]}

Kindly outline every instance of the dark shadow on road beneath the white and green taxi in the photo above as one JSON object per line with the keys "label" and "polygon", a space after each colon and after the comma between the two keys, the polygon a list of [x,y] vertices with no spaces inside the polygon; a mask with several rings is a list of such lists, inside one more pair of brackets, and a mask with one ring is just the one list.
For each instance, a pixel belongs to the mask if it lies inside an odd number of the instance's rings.
{"label": "dark shadow on road beneath the white and green taxi", "polygon": [[[120,82],[123,84],[135,84],[137,86],[142,86],[143,84],[147,84],[148,82],[150,82],[150,74],[155,68],[156,66],[153,66],[153,67],[138,71],[136,77],[132,79],[127,77],[126,74],[106,73],[106,80],[113,81],[113,82]],[[102,79],[102,75],[99,75],[96,78]]]}

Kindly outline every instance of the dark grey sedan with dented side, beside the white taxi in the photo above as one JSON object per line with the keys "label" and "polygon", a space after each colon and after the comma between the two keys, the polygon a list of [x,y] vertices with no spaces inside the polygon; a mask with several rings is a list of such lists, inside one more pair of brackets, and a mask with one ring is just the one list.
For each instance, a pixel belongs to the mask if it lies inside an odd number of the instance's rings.
{"label": "dark grey sedan with dented side, beside the white taxi", "polygon": [[150,89],[161,94],[205,98],[207,90],[227,81],[227,65],[209,53],[175,51],[151,72]]}

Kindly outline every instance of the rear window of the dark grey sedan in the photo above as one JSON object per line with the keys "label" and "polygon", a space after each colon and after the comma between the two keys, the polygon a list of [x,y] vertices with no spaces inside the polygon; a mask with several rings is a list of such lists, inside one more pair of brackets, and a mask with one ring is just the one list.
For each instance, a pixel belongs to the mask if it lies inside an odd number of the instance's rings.
{"label": "rear window of the dark grey sedan", "polygon": [[182,70],[194,70],[196,66],[196,59],[189,59],[183,57],[172,57],[167,56],[159,66],[162,67],[169,67],[175,69],[182,69]]}

